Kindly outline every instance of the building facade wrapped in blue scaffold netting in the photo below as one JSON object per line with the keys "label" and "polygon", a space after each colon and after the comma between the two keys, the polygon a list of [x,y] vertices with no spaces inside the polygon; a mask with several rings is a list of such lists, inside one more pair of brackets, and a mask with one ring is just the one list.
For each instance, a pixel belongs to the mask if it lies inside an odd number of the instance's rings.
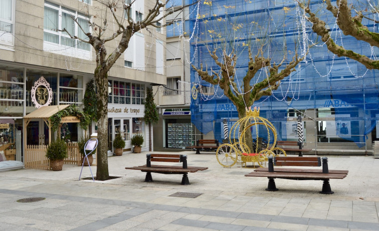
{"label": "building facade wrapped in blue scaffold netting", "polygon": [[[332,1],[333,4],[335,1]],[[348,1],[357,9],[362,1]],[[365,1],[364,1],[365,2]],[[366,2],[370,5],[370,2]],[[345,36],[336,25],[336,19],[326,10],[322,1],[310,1],[310,8],[325,20],[336,44],[359,54],[377,59],[379,50],[368,43]],[[367,8],[366,8],[367,9]],[[253,106],[260,107],[260,115],[269,119],[278,132],[279,140],[297,140],[296,118],[303,119],[305,148],[314,153],[365,154],[372,150],[372,142],[379,139],[377,104],[379,81],[377,70],[367,70],[362,64],[338,57],[317,39],[303,10],[292,0],[225,0],[203,1],[190,9],[190,27],[194,28],[190,56],[193,65],[210,74],[220,74],[220,67],[209,55],[216,49],[219,61],[222,51],[237,55],[233,78],[241,87],[247,74],[251,48],[252,57],[263,55],[271,64],[292,60],[295,53],[305,55],[289,76],[280,81],[280,87],[271,96],[262,97]],[[364,10],[364,8],[363,8]],[[367,18],[377,17],[375,10],[366,11]],[[362,24],[377,32],[372,20],[363,18]],[[262,49],[262,53],[258,53]],[[269,70],[262,68],[251,81],[251,86],[267,78]],[[192,97],[191,121],[203,134],[222,140],[223,121],[229,129],[238,120],[233,103],[223,96],[222,89],[201,80],[191,69],[191,87],[197,92]],[[203,88],[214,94],[204,94]],[[258,132],[258,135],[259,134]],[[267,138],[267,137],[266,137]],[[272,137],[271,137],[272,138]]]}

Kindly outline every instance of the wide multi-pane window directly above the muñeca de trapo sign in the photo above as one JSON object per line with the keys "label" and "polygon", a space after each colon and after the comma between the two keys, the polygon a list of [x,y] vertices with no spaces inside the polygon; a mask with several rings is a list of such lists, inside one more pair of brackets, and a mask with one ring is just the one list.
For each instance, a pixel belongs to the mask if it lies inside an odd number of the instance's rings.
{"label": "wide multi-pane window directly above the mu\u00f1eca de trapo sign", "polygon": [[145,104],[145,85],[108,80],[108,103]]}

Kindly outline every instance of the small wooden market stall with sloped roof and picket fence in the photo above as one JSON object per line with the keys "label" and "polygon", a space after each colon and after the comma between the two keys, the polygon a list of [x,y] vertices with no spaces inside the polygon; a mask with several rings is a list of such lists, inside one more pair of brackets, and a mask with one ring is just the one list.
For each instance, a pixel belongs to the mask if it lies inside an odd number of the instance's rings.
{"label": "small wooden market stall with sloped roof and picket fence", "polygon": [[[70,105],[54,105],[40,107],[32,113],[24,116],[24,164],[26,168],[50,170],[50,160],[45,157],[48,145],[27,145],[27,126],[33,119],[43,119],[49,127],[49,144],[52,141],[52,122],[50,117],[61,110],[66,109]],[[79,123],[80,120],[76,116],[63,117],[62,123]],[[60,133],[60,128],[58,131]],[[64,160],[64,164],[81,164],[81,154],[77,143],[67,144],[68,158]]]}

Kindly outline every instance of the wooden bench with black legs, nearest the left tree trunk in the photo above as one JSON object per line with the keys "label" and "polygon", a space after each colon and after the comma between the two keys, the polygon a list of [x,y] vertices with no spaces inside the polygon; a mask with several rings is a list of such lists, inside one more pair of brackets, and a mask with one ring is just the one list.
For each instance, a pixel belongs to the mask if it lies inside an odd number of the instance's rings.
{"label": "wooden bench with black legs, nearest the left tree trunk", "polygon": [[[187,156],[178,154],[147,154],[146,165],[126,167],[125,169],[141,170],[146,172],[145,182],[152,182],[151,173],[183,174],[182,185],[189,185],[188,173],[195,173],[208,169],[207,167],[187,166]],[[151,162],[182,162],[183,166],[152,165]]]}

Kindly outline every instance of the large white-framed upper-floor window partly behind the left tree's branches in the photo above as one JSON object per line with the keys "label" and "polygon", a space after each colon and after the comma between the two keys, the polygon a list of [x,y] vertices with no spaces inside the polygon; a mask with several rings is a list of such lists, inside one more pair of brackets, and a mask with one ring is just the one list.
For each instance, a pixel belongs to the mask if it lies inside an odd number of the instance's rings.
{"label": "large white-framed upper-floor window partly behind the left tree's branches", "polygon": [[[78,18],[78,23],[84,31],[73,20],[73,17]],[[79,58],[88,58],[85,55],[90,55],[91,45],[70,37],[70,35],[78,36],[81,39],[87,40],[86,33],[90,32],[88,20],[88,17],[77,11],[45,2],[44,50],[61,52],[61,54],[76,57],[79,55]],[[67,32],[59,31],[63,28],[66,28]],[[80,50],[85,53],[81,55]]]}

